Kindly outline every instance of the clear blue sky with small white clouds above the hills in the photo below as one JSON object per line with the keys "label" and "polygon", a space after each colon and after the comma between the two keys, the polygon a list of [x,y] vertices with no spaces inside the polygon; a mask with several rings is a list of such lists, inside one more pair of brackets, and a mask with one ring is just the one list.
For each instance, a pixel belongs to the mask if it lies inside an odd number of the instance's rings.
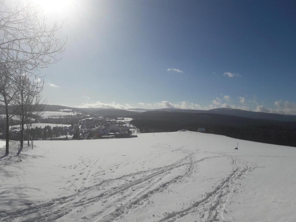
{"label": "clear blue sky with small white clouds above the hills", "polygon": [[296,1],[62,1],[48,104],[296,114]]}

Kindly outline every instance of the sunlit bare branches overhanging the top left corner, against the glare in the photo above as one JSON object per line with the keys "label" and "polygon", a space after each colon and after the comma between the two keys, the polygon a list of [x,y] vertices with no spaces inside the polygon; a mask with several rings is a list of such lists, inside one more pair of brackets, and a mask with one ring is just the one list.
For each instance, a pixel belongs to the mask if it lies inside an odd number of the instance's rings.
{"label": "sunlit bare branches overhanging the top left corner, against the glare", "polygon": [[56,36],[62,26],[54,22],[48,27],[41,12],[31,1],[17,0],[14,6],[6,6],[0,0],[0,63],[9,63],[12,69],[21,66],[27,75],[36,75],[39,68],[60,59],[56,55],[65,50],[66,41]]}

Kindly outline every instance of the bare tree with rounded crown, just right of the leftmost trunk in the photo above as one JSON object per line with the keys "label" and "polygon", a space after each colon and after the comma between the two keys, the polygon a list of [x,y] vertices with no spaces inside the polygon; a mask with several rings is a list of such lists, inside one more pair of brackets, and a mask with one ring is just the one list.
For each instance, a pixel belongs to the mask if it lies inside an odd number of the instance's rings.
{"label": "bare tree with rounded crown, just right of the leftmost trunk", "polygon": [[20,147],[23,147],[24,125],[40,116],[46,104],[46,101],[41,97],[44,81],[39,78],[32,80],[30,75],[20,72],[15,75],[15,86],[17,91],[13,99],[13,107],[20,119]]}

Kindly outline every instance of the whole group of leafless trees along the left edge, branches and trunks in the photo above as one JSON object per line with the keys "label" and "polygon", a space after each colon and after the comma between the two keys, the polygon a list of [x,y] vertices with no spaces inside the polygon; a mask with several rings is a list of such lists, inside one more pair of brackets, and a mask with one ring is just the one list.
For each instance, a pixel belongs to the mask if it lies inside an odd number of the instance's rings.
{"label": "whole group of leafless trees along the left edge, branches and trunks", "polygon": [[9,153],[9,120],[20,121],[20,147],[24,126],[40,116],[46,100],[42,99],[42,68],[57,62],[65,50],[65,41],[57,38],[61,28],[49,27],[42,9],[30,1],[4,4],[0,0],[0,107],[6,113],[6,154]]}

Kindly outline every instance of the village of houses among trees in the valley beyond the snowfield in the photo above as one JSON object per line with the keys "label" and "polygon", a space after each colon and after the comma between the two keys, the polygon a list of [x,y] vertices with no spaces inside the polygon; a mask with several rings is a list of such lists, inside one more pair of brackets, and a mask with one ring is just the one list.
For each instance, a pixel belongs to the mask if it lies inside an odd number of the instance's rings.
{"label": "village of houses among trees in the valley beyond the snowfield", "polygon": [[[129,122],[131,118],[89,117],[77,124],[30,123],[24,126],[24,140],[68,140],[68,139],[113,139],[137,137],[138,131]],[[28,129],[27,129],[28,127]],[[12,125],[10,138],[18,141],[20,126]],[[135,135],[136,134],[136,135]],[[6,129],[0,128],[0,138],[4,139]]]}

